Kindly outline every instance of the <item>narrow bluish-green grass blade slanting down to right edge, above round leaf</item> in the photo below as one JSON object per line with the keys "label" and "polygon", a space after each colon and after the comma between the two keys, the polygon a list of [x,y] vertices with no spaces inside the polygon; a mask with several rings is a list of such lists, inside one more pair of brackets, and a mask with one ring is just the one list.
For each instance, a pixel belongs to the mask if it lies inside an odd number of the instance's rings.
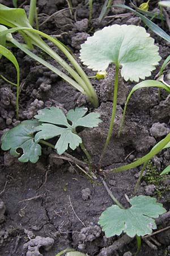
{"label": "narrow bluish-green grass blade slanting down to right edge, above round leaf", "polygon": [[132,11],[133,13],[137,14],[142,19],[143,23],[145,23],[146,26],[148,28],[150,28],[150,30],[152,30],[156,35],[158,35],[161,38],[170,42],[170,36],[164,30],[162,30],[162,28],[160,28],[158,25],[156,25],[154,22],[152,22],[150,19],[146,18],[145,16],[138,13],[137,11],[131,9],[129,6],[126,6],[126,5],[113,5],[113,6],[114,7],[125,8],[125,9],[127,9],[129,11]]}

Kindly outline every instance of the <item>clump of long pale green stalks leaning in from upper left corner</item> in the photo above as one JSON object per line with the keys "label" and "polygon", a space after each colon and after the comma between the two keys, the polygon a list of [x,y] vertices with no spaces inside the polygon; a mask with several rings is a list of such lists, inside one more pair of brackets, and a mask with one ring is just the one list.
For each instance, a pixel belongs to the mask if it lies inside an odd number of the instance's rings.
{"label": "clump of long pale green stalks leaning in from upper left corner", "polygon": [[[18,18],[19,17],[19,18]],[[22,49],[25,53],[31,56],[33,59],[39,61],[41,64],[45,65],[58,76],[61,76],[64,80],[69,82],[74,88],[78,89],[83,94],[87,94],[87,97],[92,102],[92,104],[97,107],[99,105],[96,92],[91,85],[90,80],[84,73],[83,69],[77,63],[73,55],[67,51],[66,47],[63,46],[57,39],[46,35],[45,33],[35,30],[32,28],[31,24],[27,19],[25,11],[23,9],[8,8],[0,4],[0,23],[12,27],[8,30],[4,30],[0,33],[0,36],[6,36],[7,40],[10,41],[14,46]],[[25,40],[26,46],[19,43],[16,39],[12,38],[11,33],[20,32],[23,39]],[[42,39],[41,36],[53,42],[61,51],[65,54],[67,59],[73,64],[73,68],[63,60],[56,52],[52,50]],[[54,60],[56,60],[70,75],[73,79],[67,76],[65,73],[61,72],[59,69],[47,63],[45,60],[41,59],[39,56],[35,55],[29,49],[33,49],[33,46],[39,47],[42,51],[46,52]],[[28,49],[29,48],[29,49]]]}

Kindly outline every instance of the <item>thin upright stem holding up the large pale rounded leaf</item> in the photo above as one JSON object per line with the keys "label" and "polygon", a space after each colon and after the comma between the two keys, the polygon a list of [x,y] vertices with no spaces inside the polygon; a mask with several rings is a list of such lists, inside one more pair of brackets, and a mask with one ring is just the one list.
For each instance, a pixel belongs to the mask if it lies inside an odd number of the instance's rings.
{"label": "thin upright stem holding up the large pale rounded leaf", "polygon": [[111,123],[109,126],[108,136],[107,140],[105,141],[103,151],[101,152],[100,160],[99,160],[99,169],[101,167],[101,162],[103,160],[103,157],[105,155],[105,151],[107,150],[109,141],[111,139],[112,130],[113,130],[113,124],[114,124],[114,118],[116,115],[116,105],[117,105],[117,90],[118,90],[118,70],[119,66],[116,64],[116,70],[115,70],[115,79],[114,79],[114,94],[113,94],[113,106],[112,106],[112,116],[111,116]]}

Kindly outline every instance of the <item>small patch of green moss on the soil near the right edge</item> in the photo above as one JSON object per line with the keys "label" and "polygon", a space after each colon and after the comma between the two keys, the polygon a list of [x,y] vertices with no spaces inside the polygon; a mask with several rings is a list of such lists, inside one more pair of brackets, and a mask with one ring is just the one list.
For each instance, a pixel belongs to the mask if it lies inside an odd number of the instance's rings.
{"label": "small patch of green moss on the soil near the right edge", "polygon": [[152,161],[149,161],[146,167],[146,174],[143,177],[143,180],[146,181],[147,185],[155,185],[155,194],[158,197],[161,197],[163,193],[169,191],[169,185],[164,185],[163,183],[165,179],[167,179],[167,177],[160,176],[160,172],[158,171],[154,163],[152,163]]}

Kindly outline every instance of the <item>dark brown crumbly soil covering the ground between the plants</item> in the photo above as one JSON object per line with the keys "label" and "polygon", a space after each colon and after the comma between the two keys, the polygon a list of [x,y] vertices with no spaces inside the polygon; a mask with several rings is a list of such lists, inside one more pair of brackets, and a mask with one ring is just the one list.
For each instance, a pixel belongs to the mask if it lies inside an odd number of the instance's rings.
{"label": "dark brown crumbly soil covering the ground between the plants", "polygon": [[[12,1],[0,1],[12,7]],[[23,1],[18,1],[18,5]],[[96,30],[111,24],[136,24],[144,26],[141,19],[133,14],[126,14],[125,9],[111,8],[100,24],[97,22],[103,0],[94,1],[92,21],[88,26],[87,1],[72,0],[73,17],[67,9],[65,0],[39,0],[40,30],[49,35],[57,35],[67,47],[73,51],[79,61],[80,44]],[[137,1],[139,6],[142,1]],[[129,2],[117,0],[116,3]],[[28,11],[29,1],[25,1],[23,8]],[[151,2],[151,9],[156,7]],[[57,13],[56,13],[57,12]],[[52,15],[48,21],[46,15]],[[114,16],[116,15],[116,16]],[[158,20],[154,20],[158,22]],[[42,24],[42,22],[45,22]],[[166,26],[166,24],[165,24]],[[165,30],[168,28],[165,27]],[[159,72],[165,57],[169,55],[169,43],[155,36],[156,44],[162,56],[159,67],[152,73],[152,79]],[[58,49],[50,44],[53,49]],[[35,53],[45,59],[48,58],[38,49]],[[85,105],[88,110],[99,112],[103,123],[95,129],[80,130],[80,135],[87,150],[94,160],[94,168],[99,162],[101,150],[107,137],[109,120],[111,117],[114,67],[108,69],[108,76],[104,80],[92,79],[100,106],[94,109],[73,87],[54,75],[47,68],[26,56],[18,49],[14,49],[20,65],[20,93],[19,120],[31,119],[37,110],[45,106],[59,106],[65,112],[75,106]],[[61,56],[64,57],[61,53]],[[48,59],[51,64],[57,63]],[[80,63],[80,61],[79,61]],[[88,76],[95,75],[90,69],[83,67]],[[168,74],[168,67],[165,74]],[[15,82],[15,69],[6,59],[1,59],[1,73]],[[130,163],[135,158],[145,155],[152,146],[169,133],[170,101],[168,94],[161,91],[160,100],[157,89],[141,89],[133,94],[129,102],[124,129],[121,138],[117,131],[122,117],[122,108],[134,84],[125,82],[120,77],[116,121],[109,143],[107,154],[103,161],[103,170]],[[15,116],[16,91],[6,81],[0,80],[0,135],[6,129],[18,125]],[[50,148],[42,147],[43,154],[39,162],[20,163],[18,159],[1,150],[0,155],[0,256],[54,256],[66,248],[94,255],[124,255],[130,256],[137,251],[137,242],[125,235],[106,238],[97,224],[104,209],[113,204],[106,191],[102,179],[91,180],[84,175],[73,163],[56,158]],[[79,148],[75,152],[69,150],[79,160],[84,156]],[[170,150],[158,154],[152,165],[158,173],[170,164]],[[141,167],[103,176],[109,189],[125,207],[129,207],[126,200],[135,195],[151,195],[158,198],[160,203],[169,210],[170,191],[169,176],[162,179],[159,185],[148,183],[145,177],[141,185],[134,192]],[[169,216],[158,221],[158,229],[170,224]],[[155,236],[154,240],[143,241],[138,255],[163,256],[170,255],[170,232],[166,230]]]}

